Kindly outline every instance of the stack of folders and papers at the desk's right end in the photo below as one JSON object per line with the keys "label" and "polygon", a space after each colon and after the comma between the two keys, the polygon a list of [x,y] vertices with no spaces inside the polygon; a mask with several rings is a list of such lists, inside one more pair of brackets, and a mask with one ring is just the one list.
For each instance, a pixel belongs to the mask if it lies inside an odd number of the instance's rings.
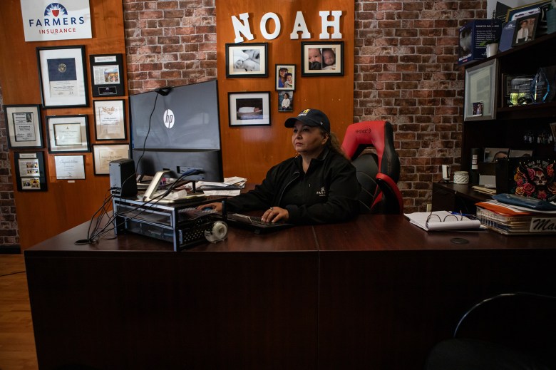
{"label": "stack of folders and papers at the desk's right end", "polygon": [[475,205],[478,220],[490,230],[504,235],[556,235],[556,211],[532,210],[496,200]]}

